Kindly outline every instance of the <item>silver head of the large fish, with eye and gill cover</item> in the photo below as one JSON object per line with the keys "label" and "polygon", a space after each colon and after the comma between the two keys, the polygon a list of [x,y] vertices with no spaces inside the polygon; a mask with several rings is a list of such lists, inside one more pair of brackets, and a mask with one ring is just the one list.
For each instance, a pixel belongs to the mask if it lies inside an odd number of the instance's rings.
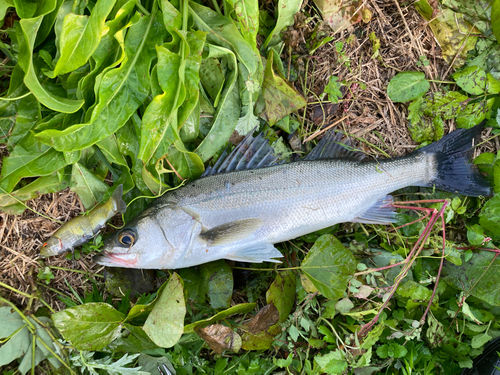
{"label": "silver head of the large fish, with eye and gill cover", "polygon": [[[179,217],[177,210],[144,212],[104,242],[94,261],[104,266],[172,269],[186,249],[193,221]],[[182,230],[182,233],[180,231]]]}

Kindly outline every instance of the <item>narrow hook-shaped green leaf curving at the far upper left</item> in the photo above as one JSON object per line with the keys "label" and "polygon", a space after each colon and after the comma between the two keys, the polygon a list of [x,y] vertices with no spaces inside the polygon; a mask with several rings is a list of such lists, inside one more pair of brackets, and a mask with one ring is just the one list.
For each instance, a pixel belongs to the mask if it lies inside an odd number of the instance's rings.
{"label": "narrow hook-shaped green leaf curving at the far upper left", "polygon": [[51,94],[38,81],[35,67],[33,66],[33,47],[42,20],[43,16],[39,16],[19,21],[24,36],[24,41],[21,43],[19,50],[19,65],[21,65],[26,73],[24,83],[33,95],[50,109],[64,113],[76,112],[83,105],[83,100],[70,100]]}

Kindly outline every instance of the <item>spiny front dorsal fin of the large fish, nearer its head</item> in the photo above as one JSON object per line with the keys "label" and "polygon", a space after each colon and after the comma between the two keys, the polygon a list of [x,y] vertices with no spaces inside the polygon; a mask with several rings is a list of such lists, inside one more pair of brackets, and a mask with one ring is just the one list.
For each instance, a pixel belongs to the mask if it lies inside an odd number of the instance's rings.
{"label": "spiny front dorsal fin of the large fish, nearer its head", "polygon": [[205,169],[202,177],[217,173],[269,167],[278,164],[280,156],[275,153],[264,133],[259,133],[254,137],[252,131],[229,155],[227,155],[227,151],[224,151],[213,167]]}

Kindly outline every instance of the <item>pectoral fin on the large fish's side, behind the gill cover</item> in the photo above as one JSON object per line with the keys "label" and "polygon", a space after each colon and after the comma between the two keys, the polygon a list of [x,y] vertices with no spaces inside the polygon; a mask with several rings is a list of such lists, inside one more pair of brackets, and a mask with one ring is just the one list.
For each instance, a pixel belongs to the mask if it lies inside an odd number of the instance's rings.
{"label": "pectoral fin on the large fish's side, behind the gill cover", "polygon": [[244,219],[219,225],[200,234],[210,246],[223,245],[248,237],[262,226],[261,219]]}

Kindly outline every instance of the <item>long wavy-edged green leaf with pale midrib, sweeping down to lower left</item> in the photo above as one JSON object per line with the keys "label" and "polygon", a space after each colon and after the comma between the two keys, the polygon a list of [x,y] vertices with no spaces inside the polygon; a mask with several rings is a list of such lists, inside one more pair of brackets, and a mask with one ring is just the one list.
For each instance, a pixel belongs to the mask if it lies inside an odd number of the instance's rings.
{"label": "long wavy-edged green leaf with pale midrib, sweeping down to lower left", "polygon": [[[155,13],[156,8],[153,8]],[[118,68],[107,71],[99,85],[98,104],[89,123],[59,130],[45,130],[37,138],[59,151],[87,148],[120,129],[149,93],[149,69],[155,45],[161,44],[163,26],[155,14],[132,25],[125,39],[126,56]]]}

